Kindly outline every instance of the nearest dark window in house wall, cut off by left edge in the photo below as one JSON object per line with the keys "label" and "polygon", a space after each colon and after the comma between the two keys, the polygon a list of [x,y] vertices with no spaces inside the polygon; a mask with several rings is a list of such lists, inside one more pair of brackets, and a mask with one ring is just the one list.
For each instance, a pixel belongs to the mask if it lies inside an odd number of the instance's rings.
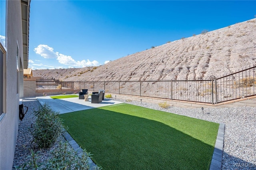
{"label": "nearest dark window in house wall, cut off by left edge", "polygon": [[0,44],[0,120],[6,112],[6,50]]}

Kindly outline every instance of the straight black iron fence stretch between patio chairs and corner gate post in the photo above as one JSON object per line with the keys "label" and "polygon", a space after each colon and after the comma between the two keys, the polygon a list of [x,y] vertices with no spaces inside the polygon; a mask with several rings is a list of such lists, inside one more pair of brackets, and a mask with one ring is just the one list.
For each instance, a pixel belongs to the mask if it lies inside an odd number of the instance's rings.
{"label": "straight black iron fence stretch between patio chairs and corner gate post", "polygon": [[[105,81],[110,93],[212,103],[211,80]],[[96,85],[96,84],[95,84]]]}

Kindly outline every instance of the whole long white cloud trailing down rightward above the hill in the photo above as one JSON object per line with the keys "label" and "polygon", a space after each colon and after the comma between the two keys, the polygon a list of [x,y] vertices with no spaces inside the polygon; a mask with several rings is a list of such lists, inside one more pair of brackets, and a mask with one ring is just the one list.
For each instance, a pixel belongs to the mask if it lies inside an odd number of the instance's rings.
{"label": "whole long white cloud trailing down rightward above the hill", "polygon": [[69,65],[69,68],[74,67],[88,67],[88,66],[97,66],[99,64],[98,61],[90,61],[89,59],[87,60],[82,60],[82,61],[75,61],[71,56],[60,54],[59,52],[54,52],[54,49],[52,47],[49,47],[48,45],[38,45],[34,51],[41,55],[42,57],[46,59],[50,58],[56,58],[59,63],[64,64],[64,65]]}

